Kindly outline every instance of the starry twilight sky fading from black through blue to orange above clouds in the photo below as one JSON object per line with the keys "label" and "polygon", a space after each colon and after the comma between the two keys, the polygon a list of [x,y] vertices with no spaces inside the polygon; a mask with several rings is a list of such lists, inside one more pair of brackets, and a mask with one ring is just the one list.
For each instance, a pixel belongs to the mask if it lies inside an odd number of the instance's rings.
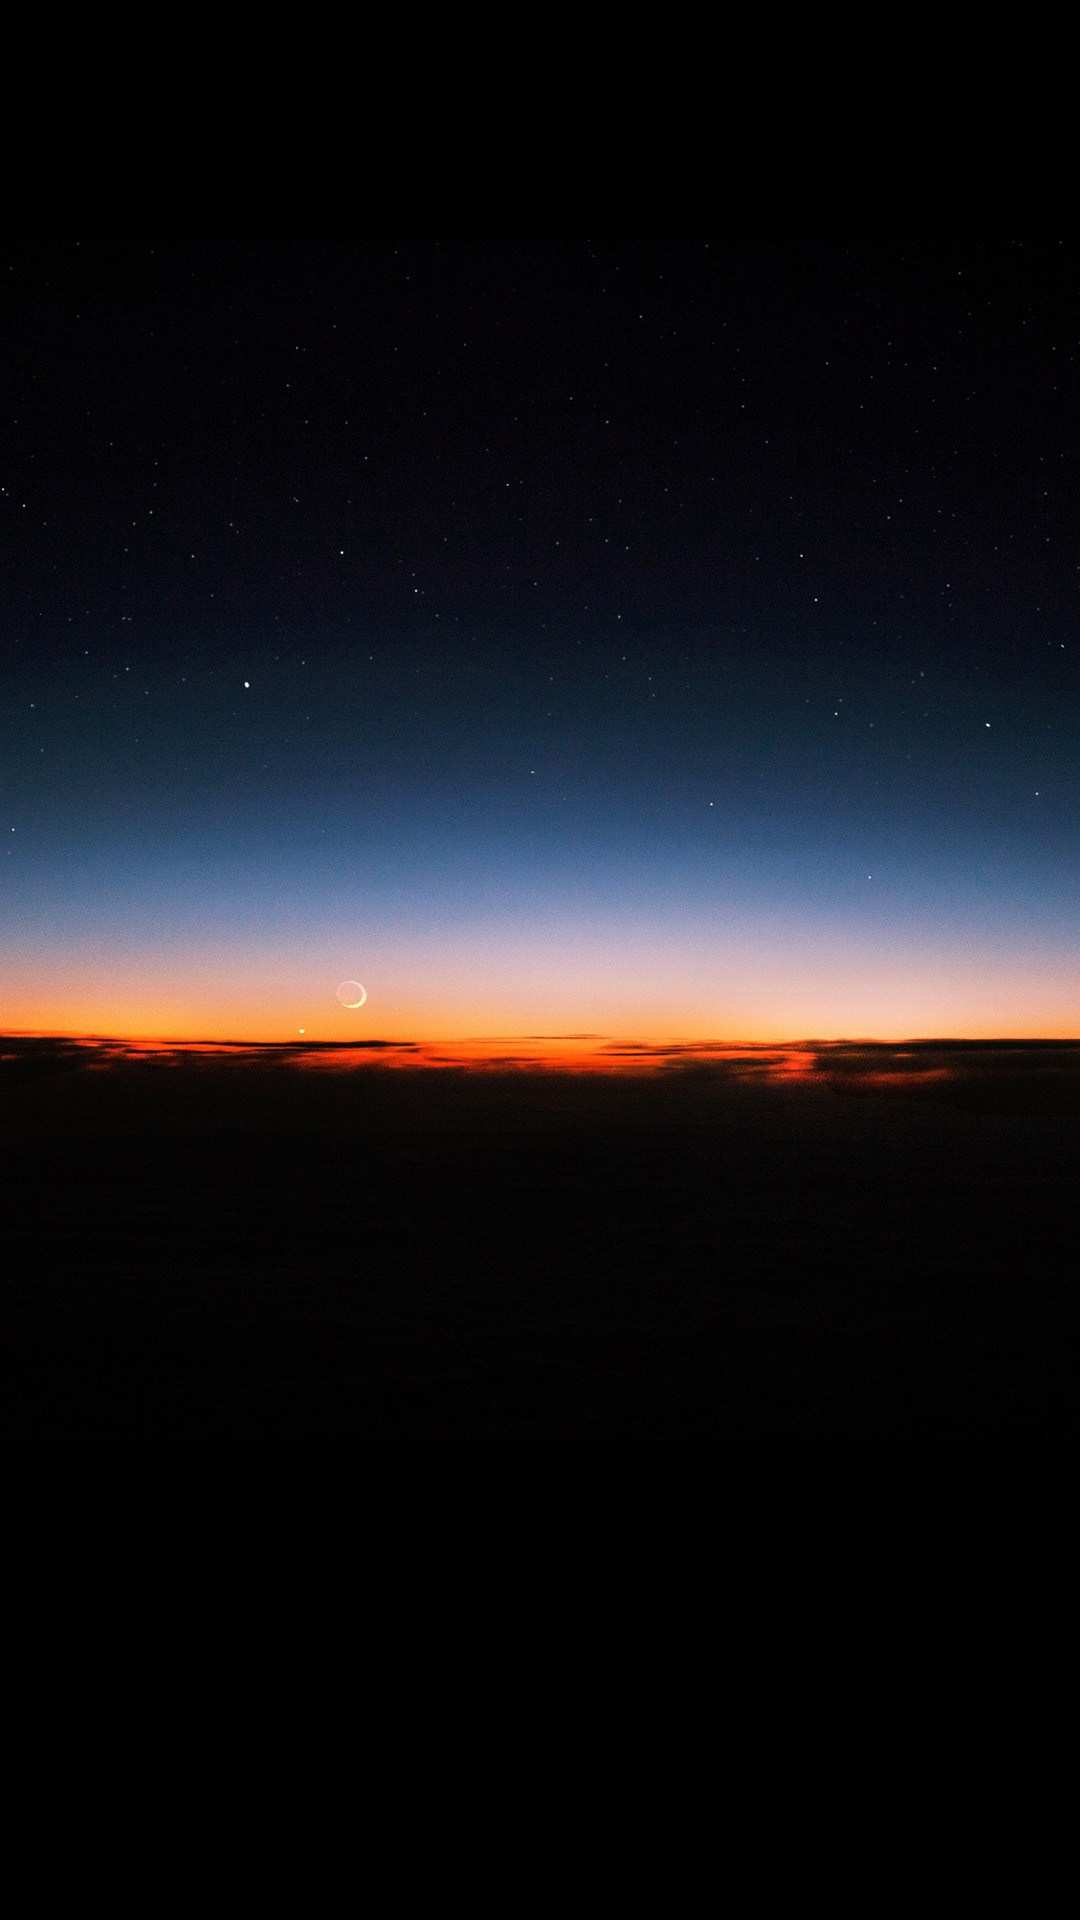
{"label": "starry twilight sky fading from black through blue to orange above clouds", "polygon": [[0,1025],[1080,1035],[1076,246],[2,296]]}

